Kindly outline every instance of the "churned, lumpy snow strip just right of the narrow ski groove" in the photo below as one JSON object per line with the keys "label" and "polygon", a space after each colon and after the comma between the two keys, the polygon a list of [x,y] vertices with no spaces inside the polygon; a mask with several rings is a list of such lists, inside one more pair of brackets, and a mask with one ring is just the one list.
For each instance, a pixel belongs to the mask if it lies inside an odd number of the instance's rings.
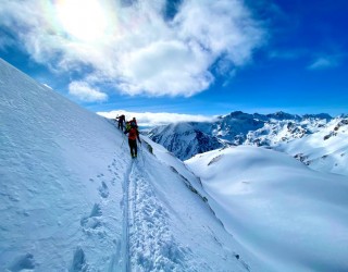
{"label": "churned, lumpy snow strip just right of the narrow ski groove", "polygon": [[129,173],[129,255],[134,271],[190,271],[188,251],[177,245],[167,225],[169,214],[157,199],[136,159]]}

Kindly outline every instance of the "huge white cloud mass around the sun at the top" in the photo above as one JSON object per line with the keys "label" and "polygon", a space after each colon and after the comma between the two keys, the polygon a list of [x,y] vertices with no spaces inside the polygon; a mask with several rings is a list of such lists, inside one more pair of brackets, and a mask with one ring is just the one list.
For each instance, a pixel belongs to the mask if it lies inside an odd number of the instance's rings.
{"label": "huge white cloud mass around the sun at the top", "polygon": [[[64,2],[70,1],[2,0],[0,27],[16,35],[35,61],[63,72],[88,65],[86,83],[113,83],[129,95],[192,96],[214,82],[216,61],[224,63],[216,71],[233,75],[264,41],[241,0],[184,0],[171,22],[163,14],[165,0],[126,7],[85,0],[84,8]],[[102,22],[98,32],[88,32],[89,21]]]}

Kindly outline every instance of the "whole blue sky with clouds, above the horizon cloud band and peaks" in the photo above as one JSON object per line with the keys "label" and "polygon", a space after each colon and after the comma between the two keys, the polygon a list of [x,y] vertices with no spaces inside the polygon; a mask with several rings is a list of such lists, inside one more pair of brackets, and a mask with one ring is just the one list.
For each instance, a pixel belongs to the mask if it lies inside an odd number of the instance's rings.
{"label": "whole blue sky with clouds, above the horizon cloud band and peaks", "polygon": [[95,112],[338,115],[346,14],[345,0],[2,0],[0,58]]}

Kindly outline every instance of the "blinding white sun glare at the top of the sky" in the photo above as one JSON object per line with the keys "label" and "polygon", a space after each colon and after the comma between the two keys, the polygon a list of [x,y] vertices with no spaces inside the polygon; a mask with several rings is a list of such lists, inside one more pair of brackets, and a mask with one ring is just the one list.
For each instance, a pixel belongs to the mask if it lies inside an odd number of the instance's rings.
{"label": "blinding white sun glare at the top of the sky", "polygon": [[98,0],[59,0],[55,10],[64,30],[74,38],[97,40],[107,30],[107,14]]}

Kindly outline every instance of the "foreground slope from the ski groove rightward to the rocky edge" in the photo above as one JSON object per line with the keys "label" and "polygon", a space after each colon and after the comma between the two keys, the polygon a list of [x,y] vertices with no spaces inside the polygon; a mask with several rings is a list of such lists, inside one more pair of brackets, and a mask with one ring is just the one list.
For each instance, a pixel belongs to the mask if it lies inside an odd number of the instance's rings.
{"label": "foreground slope from the ski groove rightward to the rocky edge", "polygon": [[[185,174],[186,178],[173,172],[173,165],[182,172],[184,164],[166,150],[166,160],[175,160],[160,162],[146,148],[147,143],[156,144],[144,136],[141,139],[138,158],[129,158],[124,181],[124,220],[128,221],[123,224],[123,259],[128,261],[124,271],[250,271],[254,259],[244,260],[241,256],[248,254],[229,235],[222,235],[225,231],[209,206],[197,191],[188,189],[185,183],[191,174]],[[186,201],[186,195],[194,201]],[[177,207],[184,210],[177,211]],[[257,271],[263,271],[262,267],[258,264]]]}

